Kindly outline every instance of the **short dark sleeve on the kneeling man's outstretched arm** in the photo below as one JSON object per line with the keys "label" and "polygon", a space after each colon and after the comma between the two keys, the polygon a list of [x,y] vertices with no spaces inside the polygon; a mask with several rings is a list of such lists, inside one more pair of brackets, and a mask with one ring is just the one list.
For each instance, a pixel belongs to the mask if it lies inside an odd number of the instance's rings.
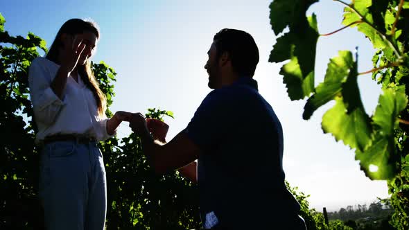
{"label": "short dark sleeve on the kneeling man's outstretched arm", "polygon": [[225,133],[225,115],[228,103],[217,89],[211,91],[196,110],[186,127],[189,139],[202,150],[209,150],[220,143]]}

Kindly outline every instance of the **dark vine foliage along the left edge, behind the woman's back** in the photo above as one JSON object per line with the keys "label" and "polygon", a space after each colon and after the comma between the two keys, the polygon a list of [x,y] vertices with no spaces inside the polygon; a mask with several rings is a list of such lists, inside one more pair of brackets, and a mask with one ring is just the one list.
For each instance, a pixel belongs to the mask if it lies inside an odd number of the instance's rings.
{"label": "dark vine foliage along the left edge, behind the woman's back", "polygon": [[33,33],[10,36],[4,23],[0,15],[0,229],[21,229],[28,222],[36,228],[43,220],[36,196],[40,166],[35,125],[23,117],[33,116],[28,67],[39,55],[37,47],[46,48]]}

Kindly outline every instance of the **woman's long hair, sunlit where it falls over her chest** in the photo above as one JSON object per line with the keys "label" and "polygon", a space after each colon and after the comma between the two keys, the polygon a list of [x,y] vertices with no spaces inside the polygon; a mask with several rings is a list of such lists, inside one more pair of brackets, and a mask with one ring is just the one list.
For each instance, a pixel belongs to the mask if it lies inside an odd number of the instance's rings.
{"label": "woman's long hair, sunlit where it falls over her chest", "polygon": [[[99,38],[98,26],[94,22],[84,21],[82,19],[69,19],[61,26],[60,30],[58,30],[46,58],[57,64],[61,64],[58,62],[60,48],[64,46],[61,40],[61,35],[65,33],[73,36],[85,32],[94,33],[96,37]],[[92,72],[91,61],[87,60],[84,65],[78,65],[77,69],[82,81],[94,94],[96,105],[98,107],[98,115],[102,116],[105,113],[107,99],[105,98],[105,94],[103,94],[99,88],[99,84],[95,79],[94,73]]]}

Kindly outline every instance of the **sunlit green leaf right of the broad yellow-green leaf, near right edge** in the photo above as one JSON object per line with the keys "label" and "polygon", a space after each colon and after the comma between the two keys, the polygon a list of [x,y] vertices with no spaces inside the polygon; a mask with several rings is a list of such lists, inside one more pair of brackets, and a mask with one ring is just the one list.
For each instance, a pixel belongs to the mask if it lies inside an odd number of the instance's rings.
{"label": "sunlit green leaf right of the broad yellow-green leaf, near right edge", "polygon": [[399,125],[398,116],[407,105],[405,87],[396,90],[383,89],[383,95],[379,96],[378,106],[372,118],[381,136],[394,135],[394,129]]}

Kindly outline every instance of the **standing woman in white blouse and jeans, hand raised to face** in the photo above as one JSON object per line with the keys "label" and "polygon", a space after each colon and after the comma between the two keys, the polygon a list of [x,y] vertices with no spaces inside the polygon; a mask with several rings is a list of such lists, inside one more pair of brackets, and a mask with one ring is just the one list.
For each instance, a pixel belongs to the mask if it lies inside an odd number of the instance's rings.
{"label": "standing woman in white blouse and jeans, hand raised to face", "polygon": [[66,21],[46,57],[33,60],[29,87],[42,145],[40,198],[49,230],[105,227],[107,187],[98,141],[114,135],[128,112],[105,116],[106,99],[92,73],[96,24]]}

